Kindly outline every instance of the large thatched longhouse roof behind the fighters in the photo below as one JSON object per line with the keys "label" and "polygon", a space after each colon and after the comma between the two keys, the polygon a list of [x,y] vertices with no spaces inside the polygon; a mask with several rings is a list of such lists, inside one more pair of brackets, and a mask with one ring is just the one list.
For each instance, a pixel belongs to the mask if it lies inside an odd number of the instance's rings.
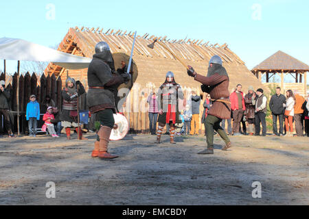
{"label": "large thatched longhouse roof behind the fighters", "polygon": [[[231,51],[227,44],[209,44],[203,40],[170,40],[168,37],[155,37],[149,34],[137,36],[133,60],[138,68],[138,77],[136,83],[146,86],[151,83],[158,88],[165,79],[165,74],[171,70],[175,74],[177,83],[187,88],[199,88],[201,83],[187,76],[186,69],[177,61],[168,51],[163,49],[160,44],[155,45],[155,49],[147,47],[148,44],[157,38],[165,44],[170,50],[188,65],[194,67],[197,73],[207,74],[208,62],[211,56],[220,55],[223,66],[227,68],[231,80],[230,88],[238,83],[243,84],[244,90],[249,86],[254,88],[263,88],[262,83],[251,73],[250,70],[240,60],[240,57]],[[95,53],[95,44],[105,41],[111,47],[112,53],[126,53],[130,55],[133,44],[133,32],[127,31],[103,31],[103,29],[89,28],[70,28],[67,36],[60,43],[58,50],[92,57]],[[64,70],[59,66],[49,64],[45,74],[62,73]],[[87,70],[80,72],[83,77],[87,77]],[[74,72],[77,75],[78,73]],[[74,76],[74,75],[73,75]]]}

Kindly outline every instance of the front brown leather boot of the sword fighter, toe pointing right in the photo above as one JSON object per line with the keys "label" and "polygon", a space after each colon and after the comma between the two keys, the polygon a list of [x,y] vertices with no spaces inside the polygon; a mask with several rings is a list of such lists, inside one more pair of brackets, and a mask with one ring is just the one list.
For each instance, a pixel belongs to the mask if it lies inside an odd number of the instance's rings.
{"label": "front brown leather boot of the sword fighter, toe pointing right", "polygon": [[107,126],[102,126],[98,131],[98,136],[100,138],[98,157],[100,159],[114,159],[118,157],[115,155],[111,155],[107,152],[107,146],[109,142],[109,137],[111,136],[111,131],[112,129]]}

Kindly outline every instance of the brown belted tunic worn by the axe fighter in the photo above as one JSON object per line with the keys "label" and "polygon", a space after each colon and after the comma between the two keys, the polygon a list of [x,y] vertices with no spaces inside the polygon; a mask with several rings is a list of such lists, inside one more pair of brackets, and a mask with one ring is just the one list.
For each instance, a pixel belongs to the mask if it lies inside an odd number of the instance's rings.
{"label": "brown belted tunic worn by the axe fighter", "polygon": [[[196,75],[195,80],[209,86],[209,94],[211,99],[221,99],[229,101],[229,77],[219,75],[218,73],[205,77]],[[222,119],[231,118],[231,104],[214,101],[212,107],[207,113]]]}

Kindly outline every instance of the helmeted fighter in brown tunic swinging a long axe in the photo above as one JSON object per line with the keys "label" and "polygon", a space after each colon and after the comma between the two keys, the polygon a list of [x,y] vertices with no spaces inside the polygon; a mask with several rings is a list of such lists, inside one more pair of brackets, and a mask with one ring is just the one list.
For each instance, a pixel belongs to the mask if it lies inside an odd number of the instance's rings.
{"label": "helmeted fighter in brown tunic swinging a long axe", "polygon": [[209,60],[207,77],[198,75],[191,66],[188,66],[187,74],[194,77],[196,81],[203,83],[201,86],[203,92],[207,92],[214,99],[204,123],[207,149],[198,154],[214,153],[214,130],[225,141],[225,146],[222,150],[226,151],[231,147],[231,141],[227,137],[225,130],[220,127],[220,122],[222,119],[231,118],[231,104],[229,103],[228,90],[229,76],[227,75],[227,70],[222,66],[220,56],[214,55]]}

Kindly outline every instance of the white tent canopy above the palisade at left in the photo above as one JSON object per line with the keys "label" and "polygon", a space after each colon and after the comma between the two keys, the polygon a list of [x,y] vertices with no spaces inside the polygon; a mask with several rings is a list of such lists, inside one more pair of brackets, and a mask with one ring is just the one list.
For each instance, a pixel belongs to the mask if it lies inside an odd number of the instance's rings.
{"label": "white tent canopy above the palisade at left", "polygon": [[91,59],[14,38],[0,38],[0,59],[54,62],[67,69],[88,68]]}

